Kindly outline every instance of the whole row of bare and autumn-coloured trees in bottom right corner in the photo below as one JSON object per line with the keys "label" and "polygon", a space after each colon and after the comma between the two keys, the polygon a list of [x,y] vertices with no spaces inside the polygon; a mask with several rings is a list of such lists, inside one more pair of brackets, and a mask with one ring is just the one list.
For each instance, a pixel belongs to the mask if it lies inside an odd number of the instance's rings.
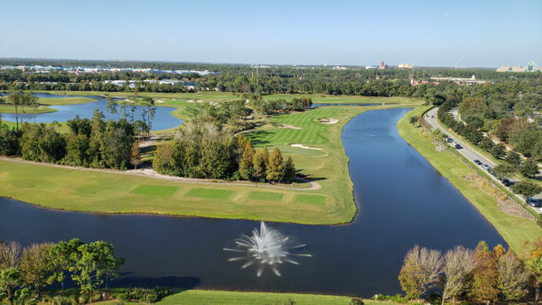
{"label": "whole row of bare and autumn-coloured trees in bottom right corner", "polygon": [[415,245],[404,258],[398,279],[406,297],[419,300],[429,291],[442,291],[442,303],[469,301],[500,303],[539,300],[542,283],[542,239],[525,257],[485,242],[476,248],[456,246],[442,254]]}

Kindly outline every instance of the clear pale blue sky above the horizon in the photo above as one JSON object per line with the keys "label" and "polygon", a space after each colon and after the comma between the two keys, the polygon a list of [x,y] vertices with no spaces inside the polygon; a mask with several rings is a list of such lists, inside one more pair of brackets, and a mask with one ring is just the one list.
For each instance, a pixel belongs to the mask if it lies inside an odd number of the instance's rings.
{"label": "clear pale blue sky above the horizon", "polygon": [[7,1],[0,57],[542,66],[542,1]]}

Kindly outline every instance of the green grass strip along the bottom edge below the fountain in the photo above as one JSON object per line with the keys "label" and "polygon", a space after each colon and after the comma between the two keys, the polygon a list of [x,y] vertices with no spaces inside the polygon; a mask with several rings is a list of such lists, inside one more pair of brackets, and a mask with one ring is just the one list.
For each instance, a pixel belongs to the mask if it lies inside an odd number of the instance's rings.
{"label": "green grass strip along the bottom edge below the fountain", "polygon": [[[240,291],[181,291],[165,297],[157,304],[350,304],[350,297],[277,292]],[[363,300],[365,304],[394,304],[391,302]]]}

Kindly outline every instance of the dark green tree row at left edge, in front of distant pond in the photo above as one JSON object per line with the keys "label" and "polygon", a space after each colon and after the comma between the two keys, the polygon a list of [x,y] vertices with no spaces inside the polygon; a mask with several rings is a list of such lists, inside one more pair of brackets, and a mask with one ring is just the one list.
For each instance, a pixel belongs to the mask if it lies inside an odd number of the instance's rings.
{"label": "dark green tree row at left edge, in front of distant pond", "polygon": [[126,169],[132,160],[135,125],[126,118],[104,120],[95,110],[92,119],[68,120],[68,134],[58,125],[23,123],[17,130],[0,125],[0,155],[35,162],[52,162],[94,168]]}

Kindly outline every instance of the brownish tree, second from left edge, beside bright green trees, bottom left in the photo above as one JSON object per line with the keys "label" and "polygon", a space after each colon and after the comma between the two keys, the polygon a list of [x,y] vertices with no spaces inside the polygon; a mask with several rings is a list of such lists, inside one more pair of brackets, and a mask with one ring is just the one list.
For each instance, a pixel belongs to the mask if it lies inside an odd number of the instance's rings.
{"label": "brownish tree, second from left edge, beside bright green trees, bottom left", "polygon": [[33,244],[23,249],[19,269],[23,274],[23,282],[32,285],[38,291],[47,285],[47,279],[51,276],[52,266],[49,250],[52,244]]}

